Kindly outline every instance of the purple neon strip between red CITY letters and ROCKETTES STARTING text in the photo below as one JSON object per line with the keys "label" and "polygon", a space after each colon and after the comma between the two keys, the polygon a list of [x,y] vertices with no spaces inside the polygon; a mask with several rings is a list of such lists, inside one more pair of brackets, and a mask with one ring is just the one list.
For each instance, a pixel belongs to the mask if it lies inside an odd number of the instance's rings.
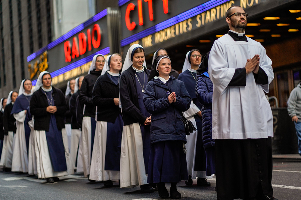
{"label": "purple neon strip between red CITY letters and ROCKETTES STARTING text", "polygon": [[[120,0],[121,1],[121,0]],[[139,33],[136,33],[134,35],[131,35],[123,40],[120,41],[121,46],[126,46],[132,42],[135,42],[136,40],[139,40],[143,37],[146,37],[150,34],[154,34],[155,32],[161,31],[164,28],[168,28],[172,25],[175,25],[178,22],[182,22],[186,19],[189,19],[190,17],[196,16],[204,11],[207,11],[213,7],[216,7],[217,5],[220,5],[222,3],[227,2],[228,0],[211,0],[207,1],[206,3],[203,3],[197,7],[191,8],[190,10],[187,10],[181,14],[178,14],[177,16],[174,16],[170,19],[167,19],[157,25],[154,25],[150,28],[145,29],[144,31],[141,31]]]}

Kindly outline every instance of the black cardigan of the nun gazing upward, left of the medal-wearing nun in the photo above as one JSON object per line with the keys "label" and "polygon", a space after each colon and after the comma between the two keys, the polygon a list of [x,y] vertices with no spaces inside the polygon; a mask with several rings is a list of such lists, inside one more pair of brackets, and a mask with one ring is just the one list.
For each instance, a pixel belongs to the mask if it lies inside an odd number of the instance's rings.
{"label": "black cardigan of the nun gazing upward, left of the medal-wearing nun", "polygon": [[121,109],[114,103],[114,98],[119,97],[118,85],[107,75],[107,72],[99,76],[95,82],[92,101],[97,106],[97,121],[114,123]]}

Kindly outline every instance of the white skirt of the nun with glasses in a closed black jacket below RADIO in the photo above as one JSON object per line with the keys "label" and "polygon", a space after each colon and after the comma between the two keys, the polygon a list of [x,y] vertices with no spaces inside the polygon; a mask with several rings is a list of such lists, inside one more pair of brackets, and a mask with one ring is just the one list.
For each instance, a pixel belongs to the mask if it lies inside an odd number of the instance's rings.
{"label": "white skirt of the nun with glasses in a closed black jacket below RADIO", "polygon": [[[82,155],[82,170],[77,168],[76,172],[84,172],[84,176],[87,177],[90,173],[90,163],[91,163],[91,134],[92,125],[91,117],[82,118],[82,135],[80,137],[79,148]],[[79,160],[79,157],[77,158]]]}

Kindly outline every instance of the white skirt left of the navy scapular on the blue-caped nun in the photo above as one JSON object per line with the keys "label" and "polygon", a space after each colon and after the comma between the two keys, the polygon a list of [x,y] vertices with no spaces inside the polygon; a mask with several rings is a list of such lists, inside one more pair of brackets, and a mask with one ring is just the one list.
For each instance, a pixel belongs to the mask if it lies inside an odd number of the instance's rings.
{"label": "white skirt left of the navy scapular on the blue-caped nun", "polygon": [[28,157],[25,139],[24,121],[16,121],[17,132],[14,136],[12,172],[28,172]]}

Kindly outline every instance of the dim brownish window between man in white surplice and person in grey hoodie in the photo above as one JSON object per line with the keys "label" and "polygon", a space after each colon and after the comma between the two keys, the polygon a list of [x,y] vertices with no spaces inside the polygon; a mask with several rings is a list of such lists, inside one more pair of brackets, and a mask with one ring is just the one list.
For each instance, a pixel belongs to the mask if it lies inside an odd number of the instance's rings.
{"label": "dim brownish window between man in white surplice and person in grey hoodie", "polygon": [[278,82],[279,107],[287,107],[287,99],[290,95],[287,72],[278,73],[276,77]]}

